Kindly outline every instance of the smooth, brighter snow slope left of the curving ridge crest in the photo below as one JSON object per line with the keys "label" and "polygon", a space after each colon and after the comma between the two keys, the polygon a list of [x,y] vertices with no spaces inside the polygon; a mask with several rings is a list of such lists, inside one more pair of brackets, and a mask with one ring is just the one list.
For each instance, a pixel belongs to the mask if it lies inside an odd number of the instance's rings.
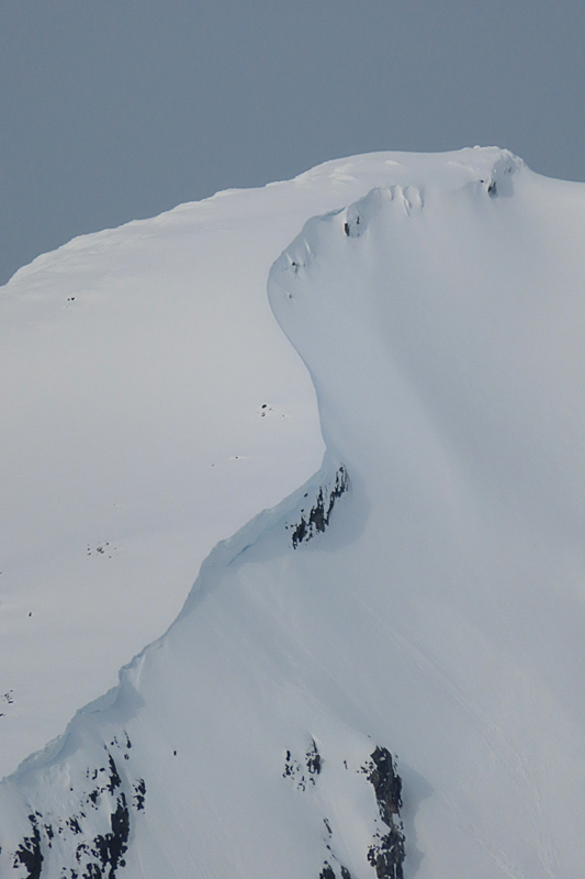
{"label": "smooth, brighter snow slope left of the curving ridge crest", "polygon": [[0,290],[0,777],[170,625],[220,539],[320,465],[266,279],[385,158],[76,238]]}

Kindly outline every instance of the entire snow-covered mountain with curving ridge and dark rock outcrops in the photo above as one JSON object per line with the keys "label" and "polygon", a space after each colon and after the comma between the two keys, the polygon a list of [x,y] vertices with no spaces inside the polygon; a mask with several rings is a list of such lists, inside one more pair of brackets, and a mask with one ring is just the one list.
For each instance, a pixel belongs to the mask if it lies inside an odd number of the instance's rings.
{"label": "entire snow-covered mountain with curving ridge and dark rock outcrops", "polygon": [[18,272],[2,877],[582,879],[584,233],[383,153]]}

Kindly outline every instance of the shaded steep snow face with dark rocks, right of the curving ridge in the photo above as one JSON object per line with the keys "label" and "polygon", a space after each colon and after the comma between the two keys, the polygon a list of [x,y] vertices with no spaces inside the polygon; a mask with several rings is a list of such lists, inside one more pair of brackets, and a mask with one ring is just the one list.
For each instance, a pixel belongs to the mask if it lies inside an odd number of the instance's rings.
{"label": "shaded steep snow face with dark rocks, right of the curving ridge", "polygon": [[585,189],[498,149],[293,182],[362,190],[269,278],[324,464],[4,780],[1,875],[581,879]]}

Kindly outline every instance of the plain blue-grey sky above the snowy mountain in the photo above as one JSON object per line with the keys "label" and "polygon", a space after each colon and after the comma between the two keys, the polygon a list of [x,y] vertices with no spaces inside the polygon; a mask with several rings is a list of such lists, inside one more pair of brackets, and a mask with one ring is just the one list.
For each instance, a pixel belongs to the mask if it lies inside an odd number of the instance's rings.
{"label": "plain blue-grey sky above the snowy mountain", "polygon": [[75,235],[376,149],[585,180],[583,0],[0,0],[0,282]]}

